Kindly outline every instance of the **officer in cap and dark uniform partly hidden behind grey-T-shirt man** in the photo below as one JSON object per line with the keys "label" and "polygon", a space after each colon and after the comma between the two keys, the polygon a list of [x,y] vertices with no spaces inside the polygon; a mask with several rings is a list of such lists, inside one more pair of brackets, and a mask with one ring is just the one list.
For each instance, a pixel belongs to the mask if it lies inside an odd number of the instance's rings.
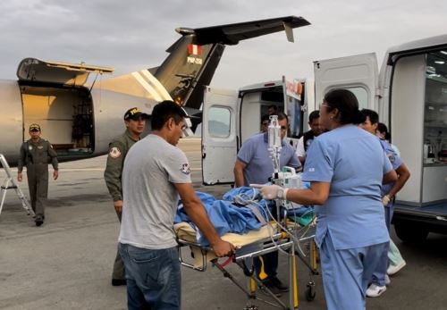
{"label": "officer in cap and dark uniform partly hidden behind grey-T-shirt man", "polygon": [[[122,167],[127,152],[139,140],[146,125],[148,114],[142,113],[134,107],[124,113],[126,130],[122,135],[115,137],[109,144],[109,155],[105,166],[104,179],[110,195],[114,199],[114,210],[121,222],[122,216]],[[114,272],[112,273],[112,285],[125,285],[124,264],[121,256],[116,252],[114,260]]]}

